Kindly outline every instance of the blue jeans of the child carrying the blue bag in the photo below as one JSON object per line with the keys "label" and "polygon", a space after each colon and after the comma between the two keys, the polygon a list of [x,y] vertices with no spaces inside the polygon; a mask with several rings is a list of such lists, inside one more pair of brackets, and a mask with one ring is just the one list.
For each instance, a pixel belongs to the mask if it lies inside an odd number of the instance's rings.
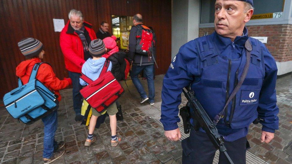
{"label": "blue jeans of the child carrying the blue bag", "polygon": [[58,144],[55,141],[55,132],[58,126],[57,110],[42,118],[44,123],[44,151],[42,154],[43,158],[50,158],[53,155],[54,149],[57,148]]}

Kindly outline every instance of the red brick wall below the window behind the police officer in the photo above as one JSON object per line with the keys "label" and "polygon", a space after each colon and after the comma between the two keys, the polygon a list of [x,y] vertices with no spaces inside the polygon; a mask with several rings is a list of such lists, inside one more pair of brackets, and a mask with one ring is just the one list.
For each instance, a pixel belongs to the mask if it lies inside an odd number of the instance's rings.
{"label": "red brick wall below the window behind the police officer", "polygon": [[[277,62],[292,61],[292,25],[260,25],[247,26],[249,36],[267,36],[265,44]],[[199,36],[204,33],[211,34],[214,28],[200,28]]]}

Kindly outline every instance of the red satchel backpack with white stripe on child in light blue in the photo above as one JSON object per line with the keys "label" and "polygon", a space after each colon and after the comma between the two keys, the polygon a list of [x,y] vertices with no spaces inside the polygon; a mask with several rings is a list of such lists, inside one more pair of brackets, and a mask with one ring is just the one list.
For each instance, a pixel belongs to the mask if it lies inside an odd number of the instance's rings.
{"label": "red satchel backpack with white stripe on child in light blue", "polygon": [[95,81],[92,81],[83,73],[80,76],[81,79],[88,83],[86,87],[80,90],[80,94],[98,113],[104,112],[109,105],[112,105],[115,100],[124,94],[124,88],[113,74],[107,71],[108,66],[109,60],[106,60],[99,77]]}

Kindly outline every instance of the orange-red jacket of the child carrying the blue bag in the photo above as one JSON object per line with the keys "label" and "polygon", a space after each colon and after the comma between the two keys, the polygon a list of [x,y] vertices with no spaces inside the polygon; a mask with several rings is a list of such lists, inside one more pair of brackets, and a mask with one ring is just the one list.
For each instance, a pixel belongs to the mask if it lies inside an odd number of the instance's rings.
{"label": "orange-red jacket of the child carrying the blue bag", "polygon": [[[25,60],[16,67],[16,76],[21,79],[23,85],[28,83],[34,65],[39,62],[41,62],[39,58],[34,58]],[[55,94],[59,96],[59,102],[61,101],[59,90],[66,88],[69,85],[68,81],[58,79],[51,65],[48,65],[47,63],[40,65],[36,74],[36,79],[42,82],[51,91],[54,91]]]}

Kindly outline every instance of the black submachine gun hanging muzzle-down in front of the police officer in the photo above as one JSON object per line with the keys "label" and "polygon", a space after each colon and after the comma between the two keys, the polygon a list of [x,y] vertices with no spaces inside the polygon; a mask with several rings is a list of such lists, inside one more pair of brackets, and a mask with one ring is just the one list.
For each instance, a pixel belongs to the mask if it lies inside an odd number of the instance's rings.
{"label": "black submachine gun hanging muzzle-down in front of the police officer", "polygon": [[[231,158],[226,152],[223,137],[220,136],[215,126],[215,123],[210,119],[198,99],[195,97],[194,91],[192,91],[190,88],[183,88],[182,91],[185,94],[185,97],[188,99],[187,105],[180,109],[180,116],[182,117],[185,134],[188,134],[190,132],[191,123],[189,120],[191,117],[194,117],[194,121],[197,122],[195,124],[195,127],[193,127],[194,130],[197,131],[200,127],[202,127],[215,148],[219,149],[221,153],[225,154],[229,162],[233,164]],[[192,113],[189,107],[194,109]]]}

